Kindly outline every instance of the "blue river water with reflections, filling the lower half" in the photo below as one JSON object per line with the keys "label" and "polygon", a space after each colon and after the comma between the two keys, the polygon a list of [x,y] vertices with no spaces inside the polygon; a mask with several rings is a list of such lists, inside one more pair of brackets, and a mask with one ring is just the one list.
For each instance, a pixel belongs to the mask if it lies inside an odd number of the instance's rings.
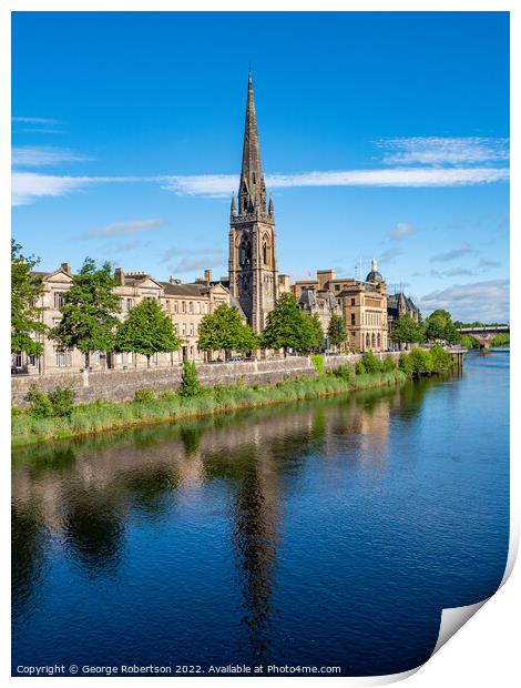
{"label": "blue river water with reflections, filling the lower half", "polygon": [[509,358],[14,452],[13,675],[422,664],[503,575]]}

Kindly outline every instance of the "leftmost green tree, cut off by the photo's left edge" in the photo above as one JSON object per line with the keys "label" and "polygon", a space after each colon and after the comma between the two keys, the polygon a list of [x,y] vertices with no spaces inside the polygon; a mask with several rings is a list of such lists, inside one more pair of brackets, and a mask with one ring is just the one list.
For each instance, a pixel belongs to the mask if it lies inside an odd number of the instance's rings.
{"label": "leftmost green tree, cut off by the photo's left edge", "polygon": [[24,256],[22,246],[11,240],[11,353],[22,351],[37,356],[43,353],[43,344],[33,338],[48,330],[41,321],[43,308],[37,305],[43,283],[32,272],[39,262],[32,255]]}

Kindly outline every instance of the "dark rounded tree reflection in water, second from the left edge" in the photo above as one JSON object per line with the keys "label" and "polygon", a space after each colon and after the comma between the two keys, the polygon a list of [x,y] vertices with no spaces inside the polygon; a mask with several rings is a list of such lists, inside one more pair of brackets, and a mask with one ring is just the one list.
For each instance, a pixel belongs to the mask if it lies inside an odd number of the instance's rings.
{"label": "dark rounded tree reflection in water, second from the left edge", "polygon": [[92,488],[74,490],[67,502],[63,530],[68,547],[89,574],[115,573],[124,525],[112,494]]}

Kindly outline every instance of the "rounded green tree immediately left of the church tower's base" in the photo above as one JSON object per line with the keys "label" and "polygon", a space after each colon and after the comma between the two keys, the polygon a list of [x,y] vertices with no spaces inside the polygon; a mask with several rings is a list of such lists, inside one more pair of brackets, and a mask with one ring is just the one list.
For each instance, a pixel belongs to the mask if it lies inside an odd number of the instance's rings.
{"label": "rounded green tree immediately left of the church tower's base", "polygon": [[252,327],[243,323],[236,306],[222,303],[201,321],[201,351],[224,351],[226,358],[229,358],[233,351],[246,352],[257,346],[257,336]]}

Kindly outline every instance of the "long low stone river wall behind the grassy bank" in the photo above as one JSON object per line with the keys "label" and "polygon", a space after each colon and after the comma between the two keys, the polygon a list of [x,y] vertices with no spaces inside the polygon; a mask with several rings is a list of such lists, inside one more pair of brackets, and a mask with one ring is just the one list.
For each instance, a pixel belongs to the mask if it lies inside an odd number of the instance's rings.
{"label": "long low stone river wall behind the grassy bank", "polygon": [[[398,357],[399,354],[391,355]],[[325,356],[324,367],[333,370],[339,365],[356,365],[360,357],[359,354]],[[201,384],[204,386],[233,385],[237,382],[246,385],[274,383],[296,377],[313,377],[317,374],[308,356],[274,357],[236,363],[200,363],[196,364],[196,368]],[[175,364],[173,367],[93,372],[88,376],[84,376],[84,373],[12,376],[11,403],[13,406],[25,406],[24,396],[30,388],[47,393],[57,387],[74,389],[75,401],[80,404],[96,399],[127,402],[134,397],[136,389],[151,388],[156,393],[177,389],[181,384],[181,365]]]}

